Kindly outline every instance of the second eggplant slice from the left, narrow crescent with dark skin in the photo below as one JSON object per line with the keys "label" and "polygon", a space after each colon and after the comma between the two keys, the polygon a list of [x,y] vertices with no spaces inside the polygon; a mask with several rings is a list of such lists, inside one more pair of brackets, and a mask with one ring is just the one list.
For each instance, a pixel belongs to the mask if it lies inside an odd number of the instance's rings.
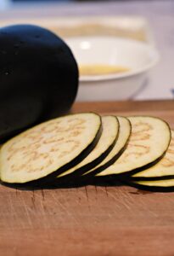
{"label": "second eggplant slice from the left, narrow crescent with dark skin", "polygon": [[97,166],[102,160],[107,157],[112,148],[115,147],[115,143],[119,134],[119,122],[115,116],[103,116],[102,117],[103,132],[98,144],[87,157],[82,160],[78,165],[70,168],[68,171],[59,174],[58,182],[60,178],[62,180],[65,177],[72,177],[76,175],[81,176],[84,172]]}

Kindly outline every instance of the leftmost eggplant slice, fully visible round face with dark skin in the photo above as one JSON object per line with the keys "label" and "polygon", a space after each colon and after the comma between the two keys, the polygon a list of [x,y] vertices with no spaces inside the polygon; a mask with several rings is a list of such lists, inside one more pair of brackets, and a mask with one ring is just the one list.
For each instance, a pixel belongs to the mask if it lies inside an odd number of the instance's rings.
{"label": "leftmost eggplant slice, fully visible round face with dark skin", "polygon": [[70,114],[36,125],[3,144],[1,180],[28,183],[52,179],[83,160],[101,133],[101,118],[96,113]]}

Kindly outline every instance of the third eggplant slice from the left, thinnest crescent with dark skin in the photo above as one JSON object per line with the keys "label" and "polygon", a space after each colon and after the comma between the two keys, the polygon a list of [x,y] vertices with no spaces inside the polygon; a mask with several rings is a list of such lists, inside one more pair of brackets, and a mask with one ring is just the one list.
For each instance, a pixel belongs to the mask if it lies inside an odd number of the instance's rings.
{"label": "third eggplant slice from the left, thinnest crescent with dark skin", "polygon": [[93,177],[98,172],[104,171],[104,169],[112,165],[126,149],[126,144],[128,143],[132,131],[131,122],[125,117],[118,116],[117,119],[119,120],[120,129],[118,139],[115,143],[115,147],[110,151],[108,156],[104,158],[104,160],[100,164],[98,164],[98,166],[84,173],[83,177]]}

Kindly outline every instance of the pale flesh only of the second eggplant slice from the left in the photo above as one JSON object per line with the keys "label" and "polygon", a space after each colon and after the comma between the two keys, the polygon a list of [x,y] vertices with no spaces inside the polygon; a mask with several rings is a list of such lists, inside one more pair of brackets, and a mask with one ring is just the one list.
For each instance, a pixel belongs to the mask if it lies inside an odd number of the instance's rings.
{"label": "pale flesh only of the second eggplant slice from the left", "polygon": [[87,155],[87,157],[82,160],[78,165],[70,168],[70,170],[61,173],[58,177],[63,177],[72,172],[75,172],[77,169],[86,166],[87,164],[93,162],[97,159],[115,142],[115,139],[119,132],[119,122],[115,116],[104,116],[102,117],[103,131],[102,136],[100,137],[98,144],[93,151]]}

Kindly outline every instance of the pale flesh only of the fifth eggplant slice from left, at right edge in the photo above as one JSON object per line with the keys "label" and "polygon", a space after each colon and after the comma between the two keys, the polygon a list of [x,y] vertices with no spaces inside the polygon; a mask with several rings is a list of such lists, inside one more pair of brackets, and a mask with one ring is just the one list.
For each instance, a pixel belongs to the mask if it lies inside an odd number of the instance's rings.
{"label": "pale flesh only of the fifth eggplant slice from left, at right edge", "polygon": [[132,177],[162,177],[174,175],[174,131],[171,131],[171,143],[165,156],[155,165]]}

